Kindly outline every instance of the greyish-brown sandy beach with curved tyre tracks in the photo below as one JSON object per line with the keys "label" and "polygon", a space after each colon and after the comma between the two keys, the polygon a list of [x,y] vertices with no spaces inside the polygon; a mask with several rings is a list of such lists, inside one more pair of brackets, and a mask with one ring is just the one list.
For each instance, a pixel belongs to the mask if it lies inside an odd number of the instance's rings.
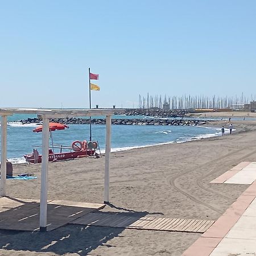
{"label": "greyish-brown sandy beach with curved tyre tracks", "polygon": [[[232,115],[233,114],[233,115]],[[240,114],[240,113],[239,113]],[[204,114],[201,114],[204,116]],[[243,161],[256,159],[256,113],[206,113],[233,121],[232,135],[186,143],[138,148],[110,154],[110,205],[103,212],[134,216],[217,220],[248,185],[212,184]],[[14,165],[14,175],[33,172],[38,179],[7,180],[7,195],[40,198],[40,164]],[[104,157],[49,163],[48,199],[102,203]],[[52,232],[0,231],[0,255],[181,255],[199,233],[160,232],[67,225]]]}

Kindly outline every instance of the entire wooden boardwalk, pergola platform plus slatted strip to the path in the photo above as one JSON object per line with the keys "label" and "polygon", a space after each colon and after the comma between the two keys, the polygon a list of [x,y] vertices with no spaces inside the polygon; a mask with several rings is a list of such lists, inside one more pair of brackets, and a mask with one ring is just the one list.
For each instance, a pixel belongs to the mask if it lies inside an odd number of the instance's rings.
{"label": "entire wooden boardwalk, pergola platform plus slatted strip to the path", "polygon": [[[96,213],[104,204],[49,200],[47,230],[67,224],[108,226],[113,228],[204,233],[214,221],[183,218],[141,217],[128,213]],[[0,198],[0,229],[38,231],[39,200]]]}

